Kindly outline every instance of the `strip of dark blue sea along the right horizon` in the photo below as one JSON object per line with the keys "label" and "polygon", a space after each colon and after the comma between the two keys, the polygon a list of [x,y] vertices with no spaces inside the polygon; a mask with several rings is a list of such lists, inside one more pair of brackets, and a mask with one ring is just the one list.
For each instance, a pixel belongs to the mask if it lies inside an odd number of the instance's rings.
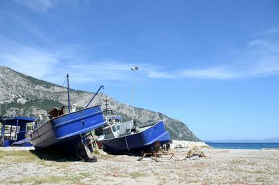
{"label": "strip of dark blue sea along the right horizon", "polygon": [[278,142],[206,142],[207,145],[216,149],[275,149],[279,148]]}

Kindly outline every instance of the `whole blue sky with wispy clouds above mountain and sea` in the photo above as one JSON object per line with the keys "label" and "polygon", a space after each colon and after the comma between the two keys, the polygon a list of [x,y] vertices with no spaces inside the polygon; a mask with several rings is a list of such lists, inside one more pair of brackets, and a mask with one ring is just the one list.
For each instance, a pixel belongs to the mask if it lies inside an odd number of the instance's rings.
{"label": "whole blue sky with wispy clouds above mountain and sea", "polygon": [[278,1],[0,1],[0,65],[179,119],[279,138]]}

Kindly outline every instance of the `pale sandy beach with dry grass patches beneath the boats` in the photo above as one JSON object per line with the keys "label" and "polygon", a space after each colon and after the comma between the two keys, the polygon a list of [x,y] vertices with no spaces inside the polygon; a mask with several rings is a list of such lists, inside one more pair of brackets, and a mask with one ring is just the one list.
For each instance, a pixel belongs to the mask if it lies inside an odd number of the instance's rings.
{"label": "pale sandy beach with dry grass patches beneath the boats", "polygon": [[0,184],[279,184],[279,151],[204,149],[206,158],[98,154],[97,163],[39,158],[30,151],[0,151]]}

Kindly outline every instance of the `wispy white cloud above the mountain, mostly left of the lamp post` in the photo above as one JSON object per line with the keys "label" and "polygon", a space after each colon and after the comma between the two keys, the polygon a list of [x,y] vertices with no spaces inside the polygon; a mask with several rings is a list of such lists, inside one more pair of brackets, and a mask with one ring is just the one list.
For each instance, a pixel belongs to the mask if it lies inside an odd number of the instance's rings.
{"label": "wispy white cloud above the mountain, mostly left of the lamp post", "polygon": [[[54,83],[61,82],[66,73],[74,83],[130,80],[130,67],[135,63],[88,59],[80,53],[83,49],[80,45],[24,45],[0,35],[0,65]],[[140,64],[140,68],[143,75],[153,66]]]}

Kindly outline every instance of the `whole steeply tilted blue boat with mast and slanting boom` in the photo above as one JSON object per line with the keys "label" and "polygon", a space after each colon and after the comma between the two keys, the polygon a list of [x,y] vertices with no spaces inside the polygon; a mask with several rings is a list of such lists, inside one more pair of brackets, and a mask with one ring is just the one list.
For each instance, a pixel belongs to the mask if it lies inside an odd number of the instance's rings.
{"label": "whole steeply tilted blue boat with mast and slanting boom", "polygon": [[[98,91],[101,88],[103,86]],[[93,98],[98,94],[98,91]],[[91,98],[91,101],[93,98]],[[30,134],[30,141],[35,149],[51,151],[65,156],[78,156],[86,161],[93,160],[95,156],[92,154],[93,148],[89,145],[91,142],[88,137],[91,133],[89,131],[105,124],[105,119],[100,105],[87,108],[89,103],[82,110],[72,110],[70,112],[69,101],[69,113],[65,114],[63,108],[60,110],[54,108],[48,112],[47,116],[39,116],[35,120],[36,129]],[[75,106],[73,107],[75,109]]]}

